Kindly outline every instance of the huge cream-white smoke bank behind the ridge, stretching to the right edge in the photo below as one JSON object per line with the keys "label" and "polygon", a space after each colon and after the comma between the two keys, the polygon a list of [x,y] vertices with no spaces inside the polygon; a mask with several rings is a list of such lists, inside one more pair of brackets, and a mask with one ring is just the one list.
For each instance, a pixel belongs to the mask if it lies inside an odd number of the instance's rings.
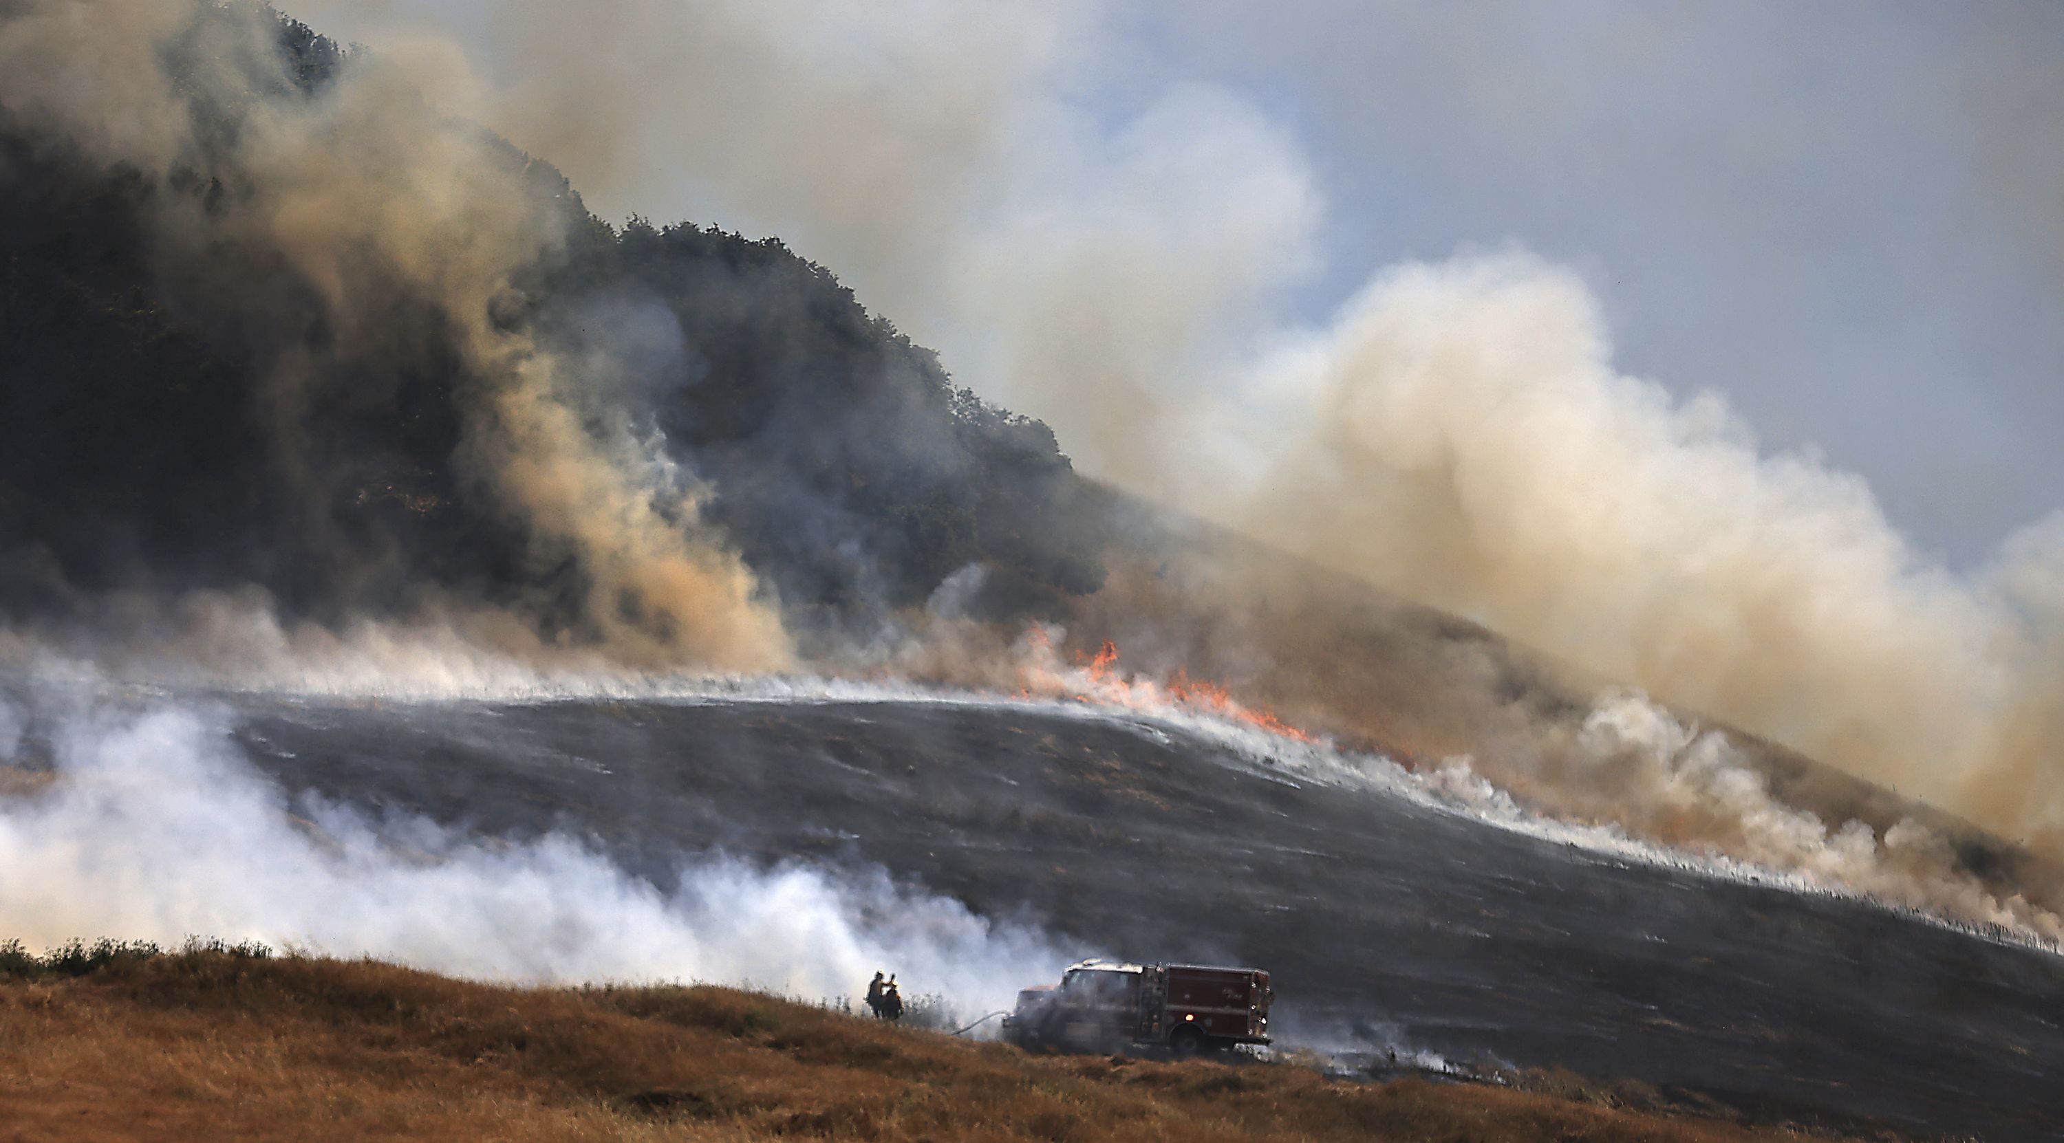
{"label": "huge cream-white smoke bank behind the ridge, stretching to the right edge", "polygon": [[1620,375],[1583,283],[1525,254],[1383,270],[1331,326],[1284,324],[1309,161],[1251,101],[1135,72],[1123,14],[518,8],[487,35],[514,78],[477,70],[475,109],[605,194],[824,252],[1086,470],[2064,844],[2056,526],[1938,567],[1860,479]]}

